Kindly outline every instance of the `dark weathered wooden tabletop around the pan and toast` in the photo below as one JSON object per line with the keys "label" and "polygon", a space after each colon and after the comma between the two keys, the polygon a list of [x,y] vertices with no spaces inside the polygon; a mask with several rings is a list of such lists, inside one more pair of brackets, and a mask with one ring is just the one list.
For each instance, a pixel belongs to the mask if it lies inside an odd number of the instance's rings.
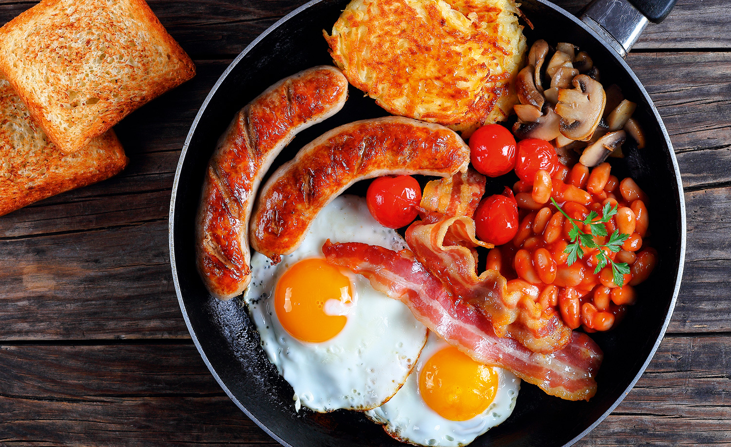
{"label": "dark weathered wooden tabletop around the pan and toast", "polygon": [[[302,0],[152,0],[194,80],[115,127],[124,173],[0,219],[0,444],[274,446],[226,397],[181,318],[167,249],[175,166],[213,83]],[[584,1],[556,3],[571,12]],[[0,23],[34,1],[0,0]],[[679,0],[630,67],[678,156],[683,286],[654,360],[577,446],[731,445],[731,7]]]}

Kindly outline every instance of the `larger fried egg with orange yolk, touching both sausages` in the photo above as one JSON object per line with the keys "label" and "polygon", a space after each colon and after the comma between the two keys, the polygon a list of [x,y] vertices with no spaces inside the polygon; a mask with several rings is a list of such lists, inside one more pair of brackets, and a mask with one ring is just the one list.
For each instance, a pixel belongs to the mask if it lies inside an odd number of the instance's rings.
{"label": "larger fried egg with orange yolk, touching both sausages", "polygon": [[322,244],[364,242],[403,249],[404,239],[371,216],[366,200],[340,196],[319,212],[303,243],[276,266],[251,258],[244,300],[269,360],[295,391],[295,407],[368,410],[398,391],[427,329],[368,279],[332,266]]}

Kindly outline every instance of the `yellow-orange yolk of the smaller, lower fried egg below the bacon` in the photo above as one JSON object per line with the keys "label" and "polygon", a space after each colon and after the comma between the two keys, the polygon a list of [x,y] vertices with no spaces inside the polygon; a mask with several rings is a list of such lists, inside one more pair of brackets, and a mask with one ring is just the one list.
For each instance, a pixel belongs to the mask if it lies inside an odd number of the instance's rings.
{"label": "yellow-orange yolk of the smaller, lower fried egg below the bacon", "polygon": [[431,356],[419,375],[426,405],[450,421],[466,421],[487,410],[497,390],[495,370],[453,346]]}

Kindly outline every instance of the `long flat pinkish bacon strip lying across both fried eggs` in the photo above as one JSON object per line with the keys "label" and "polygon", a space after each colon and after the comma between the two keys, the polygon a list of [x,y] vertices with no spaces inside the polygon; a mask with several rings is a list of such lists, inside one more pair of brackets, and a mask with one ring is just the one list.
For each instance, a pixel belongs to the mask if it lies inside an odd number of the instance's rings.
{"label": "long flat pinkish bacon strip lying across both fried eggs", "polygon": [[588,400],[596,394],[594,377],[603,354],[586,334],[574,333],[569,345],[555,353],[534,353],[515,339],[497,337],[490,320],[469,304],[453,300],[408,250],[327,241],[322,252],[328,262],[362,274],[376,290],[404,302],[417,320],[474,360],[510,369],[562,399]]}

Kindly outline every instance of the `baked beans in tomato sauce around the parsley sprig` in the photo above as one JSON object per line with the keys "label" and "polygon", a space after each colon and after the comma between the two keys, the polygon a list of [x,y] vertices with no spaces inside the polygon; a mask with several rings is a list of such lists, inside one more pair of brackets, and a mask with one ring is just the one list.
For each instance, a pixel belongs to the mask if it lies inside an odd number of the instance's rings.
{"label": "baked beans in tomato sauce around the parsley sprig", "polygon": [[[570,170],[561,165],[553,172],[538,170],[533,184],[518,181],[513,187],[518,202],[518,233],[512,241],[488,253],[488,268],[508,279],[509,290],[532,290],[531,296],[543,307],[554,307],[570,328],[607,331],[635,304],[635,286],[645,281],[657,263],[657,252],[645,244],[648,236],[648,197],[637,183],[621,181],[605,162],[594,169],[577,163]],[[627,263],[624,285],[614,283],[612,268],[594,274],[596,250],[584,249],[583,258],[567,265],[564,252],[571,244],[572,222],[550,203],[554,198],[572,219],[583,221],[591,211],[602,216],[606,203],[617,206],[617,214],[606,224],[628,235],[619,252],[607,252],[617,263]],[[582,224],[579,228],[586,233]],[[594,238],[604,245],[609,236]],[[539,290],[537,296],[534,291]]]}

